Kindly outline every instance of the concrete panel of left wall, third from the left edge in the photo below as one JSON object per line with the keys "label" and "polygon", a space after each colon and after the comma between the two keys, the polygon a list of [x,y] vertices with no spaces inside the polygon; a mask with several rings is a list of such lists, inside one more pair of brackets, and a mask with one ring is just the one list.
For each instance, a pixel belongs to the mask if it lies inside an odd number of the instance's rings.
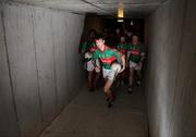
{"label": "concrete panel of left wall, third from the left edge", "polygon": [[[33,11],[33,10],[32,10]],[[34,42],[38,86],[44,123],[50,122],[57,113],[57,90],[54,74],[54,57],[51,29],[51,12],[45,9],[33,11]],[[47,23],[47,24],[46,24]]]}

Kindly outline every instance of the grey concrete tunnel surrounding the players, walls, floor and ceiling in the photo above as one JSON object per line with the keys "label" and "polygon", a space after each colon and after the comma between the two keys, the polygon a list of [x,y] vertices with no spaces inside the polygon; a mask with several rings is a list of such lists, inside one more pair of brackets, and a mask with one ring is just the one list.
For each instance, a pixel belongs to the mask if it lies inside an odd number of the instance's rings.
{"label": "grey concrete tunnel surrounding the players, walls, floor and ceiling", "polygon": [[[148,55],[143,86],[109,110],[101,89],[87,91],[78,45],[120,2],[144,21]],[[0,137],[196,137],[195,0],[1,0],[0,11]]]}

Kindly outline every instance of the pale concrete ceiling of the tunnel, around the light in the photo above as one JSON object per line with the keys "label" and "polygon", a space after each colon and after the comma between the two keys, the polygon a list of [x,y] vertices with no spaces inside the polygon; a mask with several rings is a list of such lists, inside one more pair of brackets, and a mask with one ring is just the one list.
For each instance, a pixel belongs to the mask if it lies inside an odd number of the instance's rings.
{"label": "pale concrete ceiling of the tunnel, around the light", "polygon": [[66,10],[74,13],[96,13],[117,16],[119,3],[124,4],[125,17],[146,15],[168,0],[8,0],[24,4]]}

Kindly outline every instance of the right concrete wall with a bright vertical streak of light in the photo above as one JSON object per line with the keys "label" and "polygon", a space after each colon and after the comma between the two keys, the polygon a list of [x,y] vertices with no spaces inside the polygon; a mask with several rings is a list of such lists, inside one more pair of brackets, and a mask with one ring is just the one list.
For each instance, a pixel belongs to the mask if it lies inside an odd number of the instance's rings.
{"label": "right concrete wall with a bright vertical streak of light", "polygon": [[171,0],[146,18],[150,137],[196,136],[195,7]]}

